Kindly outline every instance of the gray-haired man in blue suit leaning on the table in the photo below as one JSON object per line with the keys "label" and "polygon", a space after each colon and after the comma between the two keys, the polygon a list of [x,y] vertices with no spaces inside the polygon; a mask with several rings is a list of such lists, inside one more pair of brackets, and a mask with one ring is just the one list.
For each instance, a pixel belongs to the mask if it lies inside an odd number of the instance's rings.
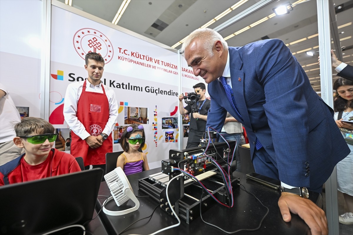
{"label": "gray-haired man in blue suit leaning on the table", "polygon": [[245,126],[255,171],[281,180],[283,220],[298,214],[312,234],[327,234],[324,211],[307,200],[321,192],[349,149],[333,110],[313,91],[292,53],[279,39],[229,47],[211,29],[184,41],[187,64],[208,84],[207,126],[222,129],[227,111]]}

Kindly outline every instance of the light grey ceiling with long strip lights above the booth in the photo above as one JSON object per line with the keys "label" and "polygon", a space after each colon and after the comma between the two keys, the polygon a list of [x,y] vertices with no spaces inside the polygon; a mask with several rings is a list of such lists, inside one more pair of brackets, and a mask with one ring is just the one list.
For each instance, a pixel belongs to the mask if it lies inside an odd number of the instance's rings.
{"label": "light grey ceiling with long strip lights above the booth", "polygon": [[[59,1],[65,2],[65,0]],[[342,51],[344,53],[343,62],[353,65],[353,0],[329,1],[335,4],[336,8],[343,4],[341,12],[336,14],[337,26],[351,23],[338,29],[338,32],[344,32],[339,34],[340,39],[351,36],[351,38],[341,41],[341,47],[346,47],[346,50]],[[189,35],[191,31],[198,29],[237,2],[239,0],[131,0],[118,25],[171,47]],[[209,28],[214,29],[257,2],[259,0],[245,2],[225,17],[211,24]],[[223,29],[220,34],[223,37],[227,37],[264,17],[268,17],[273,13],[272,8],[286,2],[293,4],[296,0],[273,1],[268,6]],[[72,0],[72,7],[111,23],[121,3],[122,0]],[[162,31],[151,27],[157,19],[167,23],[168,26]],[[264,23],[251,27],[249,30],[228,39],[227,43],[230,46],[242,46],[261,40],[263,37],[268,37],[279,38],[287,44],[315,35],[317,32],[316,0],[311,0],[294,6],[293,11],[290,11],[289,14],[270,18]],[[297,52],[317,47],[318,45],[318,37],[316,36],[288,47],[292,52]],[[176,49],[179,49],[179,47]],[[334,44],[331,47],[335,49]],[[304,67],[315,91],[320,94],[320,78],[317,78],[319,77],[319,66],[317,65],[318,48],[310,51],[314,53],[314,56],[308,56],[305,53],[306,51],[304,51],[295,54],[295,57]],[[307,66],[308,64],[309,66]],[[333,74],[336,74],[334,70]],[[335,78],[337,77],[334,76]]]}

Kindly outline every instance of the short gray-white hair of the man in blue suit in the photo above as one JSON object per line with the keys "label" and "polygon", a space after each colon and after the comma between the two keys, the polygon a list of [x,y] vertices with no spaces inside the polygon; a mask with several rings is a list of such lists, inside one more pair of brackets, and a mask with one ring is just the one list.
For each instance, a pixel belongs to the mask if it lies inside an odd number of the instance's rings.
{"label": "short gray-white hair of the man in blue suit", "polygon": [[203,43],[203,48],[208,51],[208,54],[210,56],[213,56],[213,45],[214,43],[219,40],[223,44],[223,48],[225,50],[228,50],[228,44],[227,42],[223,39],[223,37],[214,31],[213,29],[205,28],[205,29],[197,29],[192,31],[189,36],[185,39],[183,45],[181,45],[181,51],[184,52],[185,48],[187,48],[192,41],[195,39],[201,39],[201,42]]}

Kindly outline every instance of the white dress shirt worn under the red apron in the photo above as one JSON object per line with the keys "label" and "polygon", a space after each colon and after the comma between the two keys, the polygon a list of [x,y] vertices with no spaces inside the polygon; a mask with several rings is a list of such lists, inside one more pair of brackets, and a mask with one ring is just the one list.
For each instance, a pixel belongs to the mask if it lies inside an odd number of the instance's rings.
{"label": "white dress shirt worn under the red apron", "polygon": [[[84,81],[73,82],[67,86],[65,101],[64,101],[64,118],[70,129],[78,135],[82,140],[90,136],[90,133],[86,131],[84,125],[77,119],[77,103],[82,93]],[[103,93],[102,82],[99,85],[92,85],[86,79],[86,91]],[[118,120],[118,101],[115,98],[115,92],[112,88],[104,86],[104,91],[106,92],[108,103],[109,103],[109,119],[104,127],[102,133],[110,135],[114,129],[114,125]]]}

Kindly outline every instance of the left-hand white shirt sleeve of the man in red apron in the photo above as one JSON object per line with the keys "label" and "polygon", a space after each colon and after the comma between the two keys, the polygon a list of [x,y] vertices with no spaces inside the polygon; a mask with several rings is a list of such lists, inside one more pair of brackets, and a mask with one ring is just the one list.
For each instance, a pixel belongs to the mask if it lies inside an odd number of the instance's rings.
{"label": "left-hand white shirt sleeve of the man in red apron", "polygon": [[77,119],[77,102],[82,93],[83,82],[69,84],[64,101],[64,118],[70,129],[82,140],[90,136],[84,125]]}

